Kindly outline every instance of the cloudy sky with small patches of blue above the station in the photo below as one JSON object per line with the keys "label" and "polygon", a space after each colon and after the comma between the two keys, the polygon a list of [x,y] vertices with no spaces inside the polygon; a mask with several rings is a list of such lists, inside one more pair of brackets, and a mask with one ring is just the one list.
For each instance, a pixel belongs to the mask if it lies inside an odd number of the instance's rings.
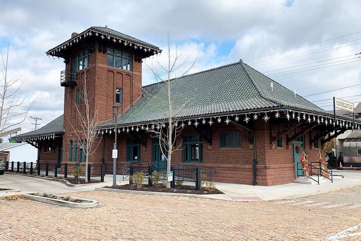
{"label": "cloudy sky with small patches of blue above the station", "polygon": [[[19,93],[27,96],[23,108],[33,102],[21,125],[22,133],[34,128],[30,116],[42,118],[41,127],[60,116],[64,108],[60,71],[65,65],[61,59],[49,59],[45,51],[90,26],[107,25],[163,50],[170,30],[178,51],[190,59],[199,53],[200,60],[191,72],[243,59],[310,101],[325,100],[315,103],[327,110],[332,109],[327,99],[333,96],[352,96],[344,99],[355,105],[361,101],[361,62],[355,55],[361,52],[360,1],[99,3],[0,0],[0,51],[6,54],[9,43],[8,76],[21,76],[24,81]],[[164,61],[164,57],[145,62]],[[143,85],[153,81],[143,63]],[[344,87],[348,88],[317,94]]]}

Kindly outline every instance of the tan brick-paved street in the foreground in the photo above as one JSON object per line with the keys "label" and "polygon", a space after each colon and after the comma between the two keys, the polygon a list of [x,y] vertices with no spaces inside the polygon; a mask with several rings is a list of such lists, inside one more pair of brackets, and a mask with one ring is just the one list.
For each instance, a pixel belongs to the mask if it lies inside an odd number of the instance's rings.
{"label": "tan brick-paved street in the foreground", "polygon": [[[361,223],[361,188],[297,200],[232,202],[104,191],[89,209],[0,200],[0,240],[326,240]],[[361,240],[355,236],[342,241]],[[348,235],[348,234],[347,234]]]}

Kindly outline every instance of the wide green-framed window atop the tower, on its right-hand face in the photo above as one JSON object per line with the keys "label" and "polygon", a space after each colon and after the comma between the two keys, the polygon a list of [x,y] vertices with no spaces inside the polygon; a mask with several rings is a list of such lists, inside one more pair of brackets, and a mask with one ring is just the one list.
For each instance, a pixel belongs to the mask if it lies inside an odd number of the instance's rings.
{"label": "wide green-framed window atop the tower, on its right-hand face", "polygon": [[132,54],[126,51],[108,48],[106,65],[118,69],[132,71]]}

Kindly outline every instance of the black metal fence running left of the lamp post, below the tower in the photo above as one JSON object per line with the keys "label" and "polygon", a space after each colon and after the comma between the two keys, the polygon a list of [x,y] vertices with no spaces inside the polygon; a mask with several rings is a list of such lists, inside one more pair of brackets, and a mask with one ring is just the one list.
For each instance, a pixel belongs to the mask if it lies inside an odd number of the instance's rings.
{"label": "black metal fence running left of the lamp post, below the tower", "polygon": [[[77,164],[58,164],[58,163],[26,163],[26,162],[6,162],[5,171],[15,172],[22,174],[30,174],[37,176],[50,176],[50,177],[63,177],[63,178],[74,178],[72,172],[74,166]],[[85,179],[85,165],[80,165],[83,169],[79,179]],[[104,182],[104,164],[92,165],[88,164],[88,180]]]}

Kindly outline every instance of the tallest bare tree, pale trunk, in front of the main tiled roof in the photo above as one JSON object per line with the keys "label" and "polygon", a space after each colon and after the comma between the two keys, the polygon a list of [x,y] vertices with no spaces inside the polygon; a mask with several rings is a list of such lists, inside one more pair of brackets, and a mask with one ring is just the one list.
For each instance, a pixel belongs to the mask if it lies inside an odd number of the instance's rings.
{"label": "tallest bare tree, pale trunk, in front of the main tiled roof", "polygon": [[[166,150],[161,148],[162,154],[165,156],[167,161],[167,173],[170,172],[170,162],[172,153],[181,148],[181,143],[178,146],[175,146],[175,139],[177,135],[180,134],[181,127],[178,124],[179,118],[177,117],[184,108],[187,107],[188,103],[192,100],[187,98],[187,96],[177,96],[171,92],[171,85],[173,82],[177,81],[179,78],[182,78],[186,75],[195,65],[198,60],[198,55],[192,64],[186,67],[189,56],[185,57],[182,53],[177,52],[177,46],[175,47],[174,52],[171,50],[172,40],[169,36],[168,31],[168,48],[167,48],[167,64],[163,65],[159,60],[156,61],[156,66],[148,66],[152,71],[154,77],[156,78],[158,87],[161,89],[161,92],[165,94],[165,98],[162,98],[157,95],[150,94],[146,89],[143,88],[143,91],[156,99],[155,104],[147,103],[149,106],[156,108],[162,115],[164,119],[158,121],[156,126],[152,128],[152,132],[156,134],[159,140],[159,145],[165,146],[168,149],[168,155],[166,155]],[[183,71],[183,69],[185,69]],[[177,76],[177,73],[180,73]],[[174,78],[173,78],[174,77]],[[179,104],[179,98],[182,98],[181,104]],[[174,148],[173,148],[174,147]],[[166,187],[170,188],[170,182],[167,181]]]}

